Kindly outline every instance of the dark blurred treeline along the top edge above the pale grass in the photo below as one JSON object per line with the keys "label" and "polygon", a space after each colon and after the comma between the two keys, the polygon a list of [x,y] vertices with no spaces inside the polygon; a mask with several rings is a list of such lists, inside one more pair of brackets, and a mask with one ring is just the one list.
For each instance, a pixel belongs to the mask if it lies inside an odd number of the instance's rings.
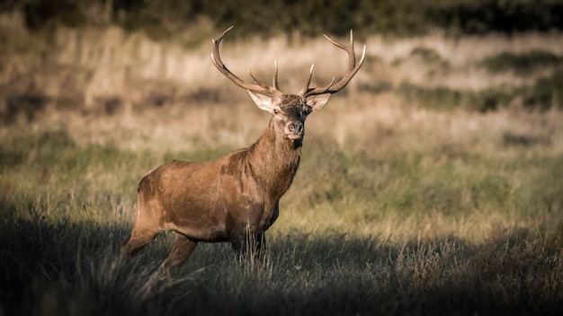
{"label": "dark blurred treeline along the top edge above the pale grass", "polygon": [[151,36],[171,36],[206,17],[241,34],[299,32],[451,36],[563,30],[563,0],[0,0],[0,11],[20,11],[31,30],[117,24]]}

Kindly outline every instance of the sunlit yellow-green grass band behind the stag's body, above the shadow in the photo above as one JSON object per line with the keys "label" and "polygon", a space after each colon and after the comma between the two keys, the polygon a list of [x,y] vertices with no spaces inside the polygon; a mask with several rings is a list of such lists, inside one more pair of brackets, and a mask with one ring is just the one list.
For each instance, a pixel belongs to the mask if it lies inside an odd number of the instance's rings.
{"label": "sunlit yellow-green grass band behind the stag's body, above the shadow", "polygon": [[[354,107],[344,101],[363,105],[344,111]],[[31,207],[52,219],[131,218],[147,171],[251,145],[268,117],[247,103],[198,109],[195,115],[206,117],[199,121],[189,110],[171,116],[172,109],[162,109],[72,116],[69,125],[45,118],[24,133],[6,127],[0,185],[10,211],[4,212],[18,217]],[[220,127],[226,117],[240,120]],[[273,231],[394,240],[455,234],[471,241],[483,241],[497,224],[550,232],[559,223],[559,119],[557,111],[477,115],[408,109],[370,94],[335,98],[308,119],[301,166]]]}

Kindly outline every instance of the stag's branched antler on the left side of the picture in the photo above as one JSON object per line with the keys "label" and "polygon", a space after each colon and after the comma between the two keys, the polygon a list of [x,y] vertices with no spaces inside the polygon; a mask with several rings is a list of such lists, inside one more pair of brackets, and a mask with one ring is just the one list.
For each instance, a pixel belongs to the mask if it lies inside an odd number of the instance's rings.
{"label": "stag's branched antler on the left side of the picture", "polygon": [[213,44],[215,45],[215,48],[213,49],[213,52],[211,53],[211,60],[213,61],[213,65],[215,65],[217,67],[217,69],[219,69],[219,72],[221,72],[221,74],[227,76],[228,79],[230,79],[233,83],[236,83],[239,87],[244,88],[248,91],[268,95],[270,97],[274,97],[276,95],[281,94],[281,91],[278,88],[278,63],[276,63],[275,61],[274,61],[274,73],[273,73],[272,86],[269,86],[269,85],[264,84],[264,83],[260,83],[255,78],[255,76],[252,75],[252,73],[250,72],[250,69],[248,69],[248,75],[250,75],[250,77],[252,78],[254,83],[246,83],[244,80],[237,77],[237,75],[231,73],[230,70],[228,70],[227,66],[225,66],[223,64],[223,61],[221,60],[221,57],[219,56],[219,43],[220,43],[221,40],[223,40],[223,37],[225,36],[225,34],[227,34],[228,31],[231,31],[232,28],[233,28],[233,26],[231,26],[227,30],[223,31],[221,33],[221,35],[219,35],[219,39],[213,40]]}

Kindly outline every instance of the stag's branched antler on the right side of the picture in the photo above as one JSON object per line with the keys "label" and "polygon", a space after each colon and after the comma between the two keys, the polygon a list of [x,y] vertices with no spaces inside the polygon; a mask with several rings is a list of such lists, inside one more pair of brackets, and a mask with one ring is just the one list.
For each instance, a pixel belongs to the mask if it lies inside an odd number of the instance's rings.
{"label": "stag's branched antler on the right side of the picture", "polygon": [[324,94],[324,93],[331,93],[332,94],[332,93],[341,91],[346,86],[346,84],[350,83],[350,80],[352,80],[353,76],[356,75],[358,70],[360,70],[360,67],[362,67],[362,65],[363,65],[363,60],[365,59],[365,48],[366,48],[366,46],[364,45],[363,46],[362,58],[360,59],[360,63],[356,66],[356,54],[353,50],[353,31],[352,30],[350,30],[350,45],[340,44],[340,43],[336,42],[335,40],[332,40],[331,38],[329,38],[325,34],[323,34],[323,36],[326,38],[326,40],[333,43],[337,48],[341,48],[341,49],[345,50],[346,53],[348,53],[348,70],[346,71],[346,74],[344,75],[344,77],[338,83],[335,83],[335,78],[333,78],[332,82],[330,84],[328,84],[326,87],[309,88],[308,85],[311,83],[311,78],[313,77],[313,68],[315,67],[315,65],[311,66],[311,69],[310,69],[309,74],[308,74],[307,81],[305,82],[305,86],[303,86],[303,89],[301,89],[298,93],[299,95],[302,95],[306,98],[311,96],[311,95]]}

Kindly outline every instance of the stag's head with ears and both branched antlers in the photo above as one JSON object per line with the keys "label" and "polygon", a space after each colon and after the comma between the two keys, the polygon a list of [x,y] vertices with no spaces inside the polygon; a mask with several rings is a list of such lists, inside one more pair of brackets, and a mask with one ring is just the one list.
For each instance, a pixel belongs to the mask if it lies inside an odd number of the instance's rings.
{"label": "stag's head with ears and both branched antlers", "polygon": [[278,65],[274,62],[274,73],[273,73],[273,83],[268,85],[265,83],[260,83],[254,75],[248,70],[248,75],[252,79],[252,83],[246,83],[240,79],[237,75],[231,73],[227,66],[221,61],[219,55],[219,43],[233,27],[231,26],[226,31],[223,31],[219,36],[219,39],[213,40],[214,50],[211,53],[211,59],[213,64],[219,69],[221,74],[225,75],[233,83],[236,83],[241,88],[246,89],[246,91],[255,101],[256,106],[261,110],[266,110],[273,115],[273,125],[277,133],[285,136],[290,140],[300,140],[305,134],[305,119],[310,113],[321,110],[325,106],[326,101],[330,98],[330,95],[342,90],[346,84],[350,82],[354,75],[362,67],[363,61],[365,59],[366,47],[363,47],[362,58],[360,63],[356,65],[355,52],[353,50],[353,32],[350,31],[350,44],[342,45],[337,43],[335,40],[330,39],[325,34],[326,40],[329,40],[337,48],[341,48],[348,54],[348,70],[344,77],[337,83],[335,83],[335,78],[326,87],[311,88],[309,84],[311,83],[311,78],[313,76],[313,69],[315,65],[311,66],[308,78],[305,82],[303,88],[296,94],[287,94],[280,91],[278,87]]}

